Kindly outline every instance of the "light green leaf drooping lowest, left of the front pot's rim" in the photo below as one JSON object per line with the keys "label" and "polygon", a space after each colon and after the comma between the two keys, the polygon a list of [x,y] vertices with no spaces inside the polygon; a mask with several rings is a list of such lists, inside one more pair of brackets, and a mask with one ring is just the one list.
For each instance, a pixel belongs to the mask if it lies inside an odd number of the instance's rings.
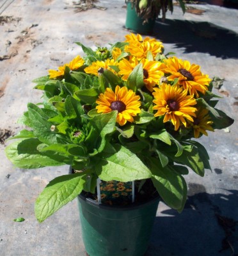
{"label": "light green leaf drooping lowest, left of the front pot's rim", "polygon": [[63,175],[49,182],[36,200],[36,219],[42,222],[68,202],[74,200],[83,191],[87,175],[85,172]]}

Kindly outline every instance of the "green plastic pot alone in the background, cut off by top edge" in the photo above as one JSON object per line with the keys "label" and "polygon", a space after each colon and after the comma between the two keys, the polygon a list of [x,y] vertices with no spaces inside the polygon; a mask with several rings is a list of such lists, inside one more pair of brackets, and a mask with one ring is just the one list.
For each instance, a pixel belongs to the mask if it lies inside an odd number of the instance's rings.
{"label": "green plastic pot alone in the background, cut off by top edge", "polygon": [[148,23],[143,24],[143,19],[138,16],[135,8],[131,8],[131,3],[127,3],[127,16],[125,20],[125,28],[133,32],[146,35],[152,34],[154,31],[155,19],[149,19]]}

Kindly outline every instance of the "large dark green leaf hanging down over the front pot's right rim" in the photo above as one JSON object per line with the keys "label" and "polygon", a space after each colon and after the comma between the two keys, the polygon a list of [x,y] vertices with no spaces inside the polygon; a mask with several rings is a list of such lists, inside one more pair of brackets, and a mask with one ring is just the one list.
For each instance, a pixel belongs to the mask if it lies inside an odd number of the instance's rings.
{"label": "large dark green leaf hanging down over the front pot's right rim", "polygon": [[164,202],[173,209],[181,211],[187,197],[184,178],[169,166],[162,167],[159,160],[150,158],[152,182]]}

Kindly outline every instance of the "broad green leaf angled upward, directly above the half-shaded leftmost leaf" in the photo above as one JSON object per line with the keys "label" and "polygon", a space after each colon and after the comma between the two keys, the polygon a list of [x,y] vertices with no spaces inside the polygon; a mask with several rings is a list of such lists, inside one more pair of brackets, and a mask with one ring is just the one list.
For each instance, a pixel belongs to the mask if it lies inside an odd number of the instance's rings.
{"label": "broad green leaf angled upward, directly above the half-shaded leftmost leaf", "polygon": [[56,143],[56,135],[54,132],[51,132],[52,123],[48,121],[49,116],[41,108],[32,103],[28,103],[28,112],[35,137],[45,144]]}

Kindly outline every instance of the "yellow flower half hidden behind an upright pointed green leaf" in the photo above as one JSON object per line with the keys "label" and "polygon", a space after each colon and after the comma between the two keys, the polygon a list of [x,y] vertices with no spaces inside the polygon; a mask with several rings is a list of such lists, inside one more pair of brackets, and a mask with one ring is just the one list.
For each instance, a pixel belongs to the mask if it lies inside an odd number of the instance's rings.
{"label": "yellow flower half hidden behind an upright pointed green leaf", "polygon": [[153,87],[159,84],[161,76],[164,75],[162,71],[159,71],[161,62],[149,61],[146,58],[141,60],[143,64],[144,83],[150,92],[153,91]]}

